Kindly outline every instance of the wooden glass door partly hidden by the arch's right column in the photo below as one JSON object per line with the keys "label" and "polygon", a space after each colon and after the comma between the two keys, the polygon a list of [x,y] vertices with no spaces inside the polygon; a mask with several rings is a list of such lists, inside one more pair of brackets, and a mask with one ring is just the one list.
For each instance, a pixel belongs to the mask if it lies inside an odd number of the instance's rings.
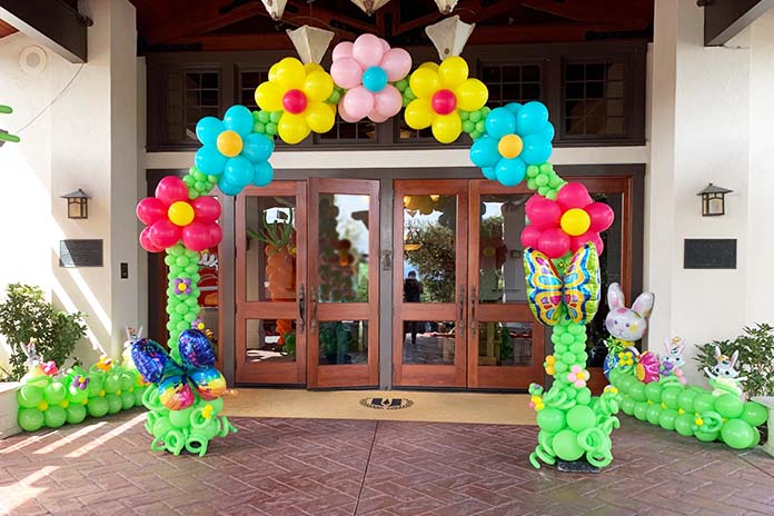
{"label": "wooden glass door partly hidden by the arch's right column", "polygon": [[527,388],[543,381],[544,328],[526,304],[522,230],[530,192],[470,181],[468,385]]}

